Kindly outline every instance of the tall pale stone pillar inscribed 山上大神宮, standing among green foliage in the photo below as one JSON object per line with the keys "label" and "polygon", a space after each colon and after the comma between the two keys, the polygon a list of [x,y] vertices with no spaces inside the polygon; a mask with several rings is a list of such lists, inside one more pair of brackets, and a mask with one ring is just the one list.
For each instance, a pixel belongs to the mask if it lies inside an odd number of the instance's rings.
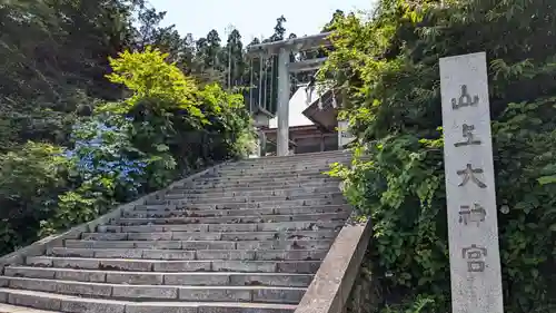
{"label": "tall pale stone pillar inscribed \u5c71\u4e0a\u5927\u795e\u5bae, standing among green foliage", "polygon": [[454,313],[503,313],[486,55],[440,59]]}

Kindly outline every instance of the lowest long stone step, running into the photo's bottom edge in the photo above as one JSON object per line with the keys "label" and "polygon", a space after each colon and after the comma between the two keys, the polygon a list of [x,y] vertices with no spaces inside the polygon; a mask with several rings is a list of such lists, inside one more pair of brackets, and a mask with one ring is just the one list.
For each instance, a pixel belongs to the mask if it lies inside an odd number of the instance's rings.
{"label": "lowest long stone step, running into the photo's bottom edge", "polygon": [[0,288],[0,301],[66,313],[292,313],[296,305],[242,302],[127,302]]}

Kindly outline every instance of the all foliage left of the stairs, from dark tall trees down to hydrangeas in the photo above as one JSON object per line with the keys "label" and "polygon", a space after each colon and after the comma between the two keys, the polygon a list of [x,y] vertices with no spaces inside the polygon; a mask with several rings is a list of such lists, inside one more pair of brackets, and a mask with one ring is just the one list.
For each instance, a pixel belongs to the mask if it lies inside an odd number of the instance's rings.
{"label": "all foliage left of the stairs, from dark tall trees down to hydrangeas", "polygon": [[[142,0],[0,3],[0,254],[250,151],[242,96],[200,66],[224,62],[163,16]],[[234,36],[212,36],[220,59],[242,60]]]}

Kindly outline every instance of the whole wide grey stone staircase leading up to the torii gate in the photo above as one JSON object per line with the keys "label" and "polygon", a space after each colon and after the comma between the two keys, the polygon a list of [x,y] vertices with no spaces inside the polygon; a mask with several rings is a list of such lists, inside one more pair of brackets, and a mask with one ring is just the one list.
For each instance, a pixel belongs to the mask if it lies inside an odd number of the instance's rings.
{"label": "whole wide grey stone staircase leading up to the torii gate", "polygon": [[330,151],[221,166],[6,265],[0,303],[76,313],[294,312],[350,214],[339,182],[321,172],[349,159]]}

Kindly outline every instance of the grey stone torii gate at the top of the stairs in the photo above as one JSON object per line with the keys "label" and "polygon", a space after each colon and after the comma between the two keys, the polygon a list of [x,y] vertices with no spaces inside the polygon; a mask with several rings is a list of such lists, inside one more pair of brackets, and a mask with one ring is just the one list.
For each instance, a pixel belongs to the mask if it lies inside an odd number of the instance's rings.
{"label": "grey stone torii gate at the top of the stairs", "polygon": [[247,56],[255,58],[257,56],[278,55],[278,131],[277,131],[277,155],[286,156],[289,154],[289,75],[300,71],[309,71],[320,68],[327,58],[309,59],[304,61],[290,62],[291,52],[314,50],[320,47],[330,47],[328,37],[331,32],[322,32],[300,38],[254,45],[247,48]]}

